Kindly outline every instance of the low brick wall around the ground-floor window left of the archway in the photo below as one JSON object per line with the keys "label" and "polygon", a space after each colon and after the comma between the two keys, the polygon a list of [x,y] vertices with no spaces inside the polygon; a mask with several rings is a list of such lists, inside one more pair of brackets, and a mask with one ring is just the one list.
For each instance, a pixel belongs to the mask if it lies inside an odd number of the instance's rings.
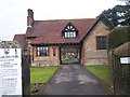
{"label": "low brick wall around the ground-floor window left of the archway", "polygon": [[60,65],[60,48],[58,46],[49,46],[48,56],[37,56],[37,46],[32,46],[32,64],[35,67],[58,66]]}

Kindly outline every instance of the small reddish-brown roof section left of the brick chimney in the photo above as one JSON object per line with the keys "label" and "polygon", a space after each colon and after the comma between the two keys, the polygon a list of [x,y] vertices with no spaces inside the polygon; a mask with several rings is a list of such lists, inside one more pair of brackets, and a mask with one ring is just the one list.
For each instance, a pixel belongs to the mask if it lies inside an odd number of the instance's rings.
{"label": "small reddish-brown roof section left of the brick chimney", "polygon": [[25,34],[15,34],[13,41],[18,42],[23,50],[27,47],[27,41]]}

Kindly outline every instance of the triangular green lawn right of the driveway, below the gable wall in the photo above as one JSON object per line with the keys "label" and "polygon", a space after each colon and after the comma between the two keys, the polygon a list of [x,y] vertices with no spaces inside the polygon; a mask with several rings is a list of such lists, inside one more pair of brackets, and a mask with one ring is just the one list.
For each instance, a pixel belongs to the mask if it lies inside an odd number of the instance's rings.
{"label": "triangular green lawn right of the driveway, below the gable wall", "polygon": [[92,66],[86,66],[86,68],[89,69],[96,77],[102,79],[104,82],[112,85],[113,83],[112,74],[107,65],[92,65]]}

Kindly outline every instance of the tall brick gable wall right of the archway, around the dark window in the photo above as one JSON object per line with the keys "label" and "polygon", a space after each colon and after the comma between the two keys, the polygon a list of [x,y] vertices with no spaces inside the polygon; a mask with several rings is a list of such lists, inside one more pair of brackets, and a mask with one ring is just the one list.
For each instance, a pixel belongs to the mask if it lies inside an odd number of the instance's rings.
{"label": "tall brick gable wall right of the archway, around the dark window", "polygon": [[96,36],[106,36],[109,31],[107,27],[99,22],[89,36],[84,39],[82,45],[81,64],[82,65],[106,65],[106,50],[96,50]]}

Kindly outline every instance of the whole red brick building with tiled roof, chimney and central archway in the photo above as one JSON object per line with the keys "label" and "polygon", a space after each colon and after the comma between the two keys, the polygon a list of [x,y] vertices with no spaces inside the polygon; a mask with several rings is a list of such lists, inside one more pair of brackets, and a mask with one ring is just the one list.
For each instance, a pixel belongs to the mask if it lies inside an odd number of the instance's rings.
{"label": "whole red brick building with tiled roof, chimney and central archway", "polygon": [[108,25],[112,24],[104,15],[83,19],[35,20],[32,10],[28,10],[26,33],[15,34],[14,41],[29,51],[32,66],[57,66],[70,61],[107,65],[105,42]]}

